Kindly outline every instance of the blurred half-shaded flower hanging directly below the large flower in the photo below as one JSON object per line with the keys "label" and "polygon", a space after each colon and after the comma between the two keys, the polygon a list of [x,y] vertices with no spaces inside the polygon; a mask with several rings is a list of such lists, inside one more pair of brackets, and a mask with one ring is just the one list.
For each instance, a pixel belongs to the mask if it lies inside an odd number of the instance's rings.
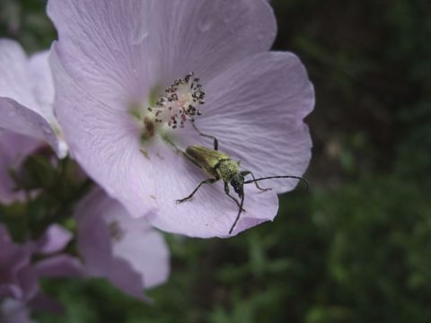
{"label": "blurred half-shaded flower hanging directly below the large flower", "polygon": [[169,276],[169,250],[144,218],[134,219],[101,188],[76,209],[78,250],[90,276],[104,277],[123,292],[145,299],[144,289]]}

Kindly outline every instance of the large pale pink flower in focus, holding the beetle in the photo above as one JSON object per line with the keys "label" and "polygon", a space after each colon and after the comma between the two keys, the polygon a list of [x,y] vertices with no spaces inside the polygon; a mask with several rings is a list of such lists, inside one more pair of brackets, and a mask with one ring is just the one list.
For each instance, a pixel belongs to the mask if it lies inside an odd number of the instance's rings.
{"label": "large pale pink flower in focus, holding the beetle", "polygon": [[[227,237],[238,206],[174,148],[212,147],[256,177],[301,176],[311,157],[303,118],[314,93],[295,55],[268,52],[276,21],[264,0],[48,1],[56,113],[71,153],[134,217],[196,237]],[[245,186],[233,234],[277,214],[277,193]]]}

